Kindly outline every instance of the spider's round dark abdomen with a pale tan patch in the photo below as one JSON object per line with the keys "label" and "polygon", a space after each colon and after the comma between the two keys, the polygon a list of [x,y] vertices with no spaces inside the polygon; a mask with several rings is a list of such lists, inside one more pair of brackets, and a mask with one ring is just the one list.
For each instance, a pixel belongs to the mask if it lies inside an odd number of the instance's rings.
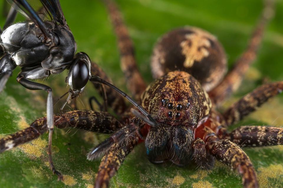
{"label": "spider's round dark abdomen with a pale tan patch", "polygon": [[163,35],[154,47],[151,67],[154,78],[181,70],[190,73],[206,91],[226,73],[226,55],[215,36],[196,27],[184,27]]}

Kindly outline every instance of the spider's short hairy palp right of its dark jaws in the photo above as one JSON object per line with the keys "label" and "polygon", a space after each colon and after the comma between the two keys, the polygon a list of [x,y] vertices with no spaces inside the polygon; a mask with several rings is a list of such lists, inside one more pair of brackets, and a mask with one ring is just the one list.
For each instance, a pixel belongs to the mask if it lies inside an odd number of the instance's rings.
{"label": "spider's short hairy palp right of its dark jaws", "polygon": [[205,149],[205,143],[200,138],[197,138],[193,143],[194,153],[193,158],[195,164],[200,169],[210,170],[214,167],[215,160],[212,155]]}

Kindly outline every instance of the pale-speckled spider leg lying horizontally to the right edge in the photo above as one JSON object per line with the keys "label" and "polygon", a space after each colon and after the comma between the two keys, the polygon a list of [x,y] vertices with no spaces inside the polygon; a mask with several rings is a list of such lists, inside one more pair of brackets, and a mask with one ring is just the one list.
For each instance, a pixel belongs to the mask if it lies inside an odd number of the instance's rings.
{"label": "pale-speckled spider leg lying horizontally to the right edge", "polygon": [[242,126],[229,133],[226,139],[244,147],[283,145],[283,128]]}

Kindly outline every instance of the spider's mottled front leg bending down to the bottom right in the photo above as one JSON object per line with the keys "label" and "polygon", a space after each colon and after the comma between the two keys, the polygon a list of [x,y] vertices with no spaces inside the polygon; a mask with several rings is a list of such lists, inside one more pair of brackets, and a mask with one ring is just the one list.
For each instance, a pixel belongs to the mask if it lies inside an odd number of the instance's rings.
{"label": "spider's mottled front leg bending down to the bottom right", "polygon": [[259,187],[254,166],[238,145],[229,140],[219,140],[213,133],[206,135],[205,145],[213,157],[241,175],[244,188]]}

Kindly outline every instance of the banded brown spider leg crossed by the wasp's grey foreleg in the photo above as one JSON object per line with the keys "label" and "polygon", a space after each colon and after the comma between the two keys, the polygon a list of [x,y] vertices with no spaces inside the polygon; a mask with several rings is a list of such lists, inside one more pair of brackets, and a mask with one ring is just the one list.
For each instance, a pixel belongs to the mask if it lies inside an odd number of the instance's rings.
{"label": "banded brown spider leg crossed by the wasp's grey foreleg", "polygon": [[[57,128],[77,128],[93,132],[111,133],[123,127],[111,114],[94,111],[70,111],[54,116]],[[30,127],[0,139],[0,153],[38,138],[48,131],[47,117],[32,122]]]}

